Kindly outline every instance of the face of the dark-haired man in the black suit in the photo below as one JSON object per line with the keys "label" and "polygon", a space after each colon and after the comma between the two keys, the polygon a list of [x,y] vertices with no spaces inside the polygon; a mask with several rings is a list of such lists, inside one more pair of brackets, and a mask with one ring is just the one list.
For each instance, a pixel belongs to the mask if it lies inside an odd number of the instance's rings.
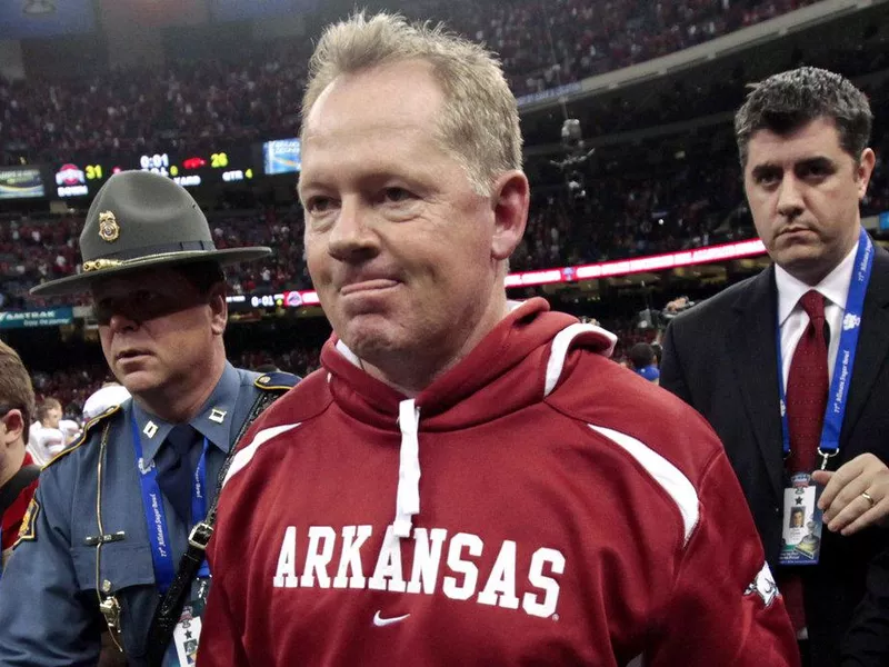
{"label": "face of the dark-haired man in the black suit", "polygon": [[828,118],[786,136],[753,132],[745,190],[757,232],[776,263],[815,285],[842,261],[858,239],[858,203],[873,161],[867,149],[856,163]]}

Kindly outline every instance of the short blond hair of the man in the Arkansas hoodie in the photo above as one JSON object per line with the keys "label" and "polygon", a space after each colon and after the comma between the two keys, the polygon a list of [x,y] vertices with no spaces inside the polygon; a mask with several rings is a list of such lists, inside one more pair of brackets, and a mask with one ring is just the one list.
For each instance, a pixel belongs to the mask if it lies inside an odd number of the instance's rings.
{"label": "short blond hair of the man in the Arkansas hoodie", "polygon": [[432,66],[444,93],[438,140],[479,195],[489,195],[505,171],[521,169],[518,107],[497,58],[441,23],[409,23],[399,14],[367,18],[359,12],[324,30],[309,61],[303,127],[318,97],[338,77],[406,60]]}

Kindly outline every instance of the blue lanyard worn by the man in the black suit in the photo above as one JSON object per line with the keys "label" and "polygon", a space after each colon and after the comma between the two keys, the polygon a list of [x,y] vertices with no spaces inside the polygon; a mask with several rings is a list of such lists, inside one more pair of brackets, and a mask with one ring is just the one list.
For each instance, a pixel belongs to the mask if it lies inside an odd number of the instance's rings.
{"label": "blue lanyard worn by the man in the black suit", "polygon": [[[865,295],[867,293],[870,271],[873,268],[873,242],[868,232],[861,229],[858,236],[858,251],[852,267],[852,279],[849,282],[849,293],[846,297],[846,315],[840,327],[840,341],[837,350],[837,360],[833,364],[833,379],[830,382],[825,422],[821,427],[821,440],[818,454],[821,459],[821,469],[827,467],[830,457],[836,456],[840,448],[840,430],[846,416],[846,399],[849,396],[849,385],[855,367],[858,335],[861,331],[861,313],[865,309]],[[776,327],[778,345],[778,391],[781,397],[781,431],[783,437],[785,458],[790,455],[790,429],[787,424],[787,397],[785,395],[783,362],[781,359],[781,326]]]}

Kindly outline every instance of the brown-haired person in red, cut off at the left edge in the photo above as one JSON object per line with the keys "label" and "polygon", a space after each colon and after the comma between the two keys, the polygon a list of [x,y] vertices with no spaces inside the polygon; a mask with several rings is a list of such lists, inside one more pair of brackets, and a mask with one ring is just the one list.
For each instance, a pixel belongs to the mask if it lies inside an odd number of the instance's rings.
{"label": "brown-haired person in red, cut off at the left edge", "polygon": [[27,516],[33,511],[31,499],[40,474],[24,444],[33,411],[31,378],[18,352],[0,341],[0,570],[19,532],[27,538],[30,530]]}

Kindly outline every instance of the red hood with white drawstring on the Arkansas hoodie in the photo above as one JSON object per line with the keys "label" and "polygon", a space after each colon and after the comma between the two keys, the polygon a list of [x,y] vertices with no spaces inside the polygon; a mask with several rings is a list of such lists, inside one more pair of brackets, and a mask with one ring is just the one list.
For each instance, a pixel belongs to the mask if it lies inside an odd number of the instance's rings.
{"label": "red hood with white drawstring on the Arkansas hoodie", "polygon": [[545,299],[518,303],[459,364],[414,398],[368,375],[358,357],[331,336],[321,350],[330,391],[348,415],[400,432],[401,457],[394,532],[408,537],[419,512],[419,447],[423,431],[471,428],[541,401],[575,366],[569,351],[583,347],[610,356],[617,338]]}

